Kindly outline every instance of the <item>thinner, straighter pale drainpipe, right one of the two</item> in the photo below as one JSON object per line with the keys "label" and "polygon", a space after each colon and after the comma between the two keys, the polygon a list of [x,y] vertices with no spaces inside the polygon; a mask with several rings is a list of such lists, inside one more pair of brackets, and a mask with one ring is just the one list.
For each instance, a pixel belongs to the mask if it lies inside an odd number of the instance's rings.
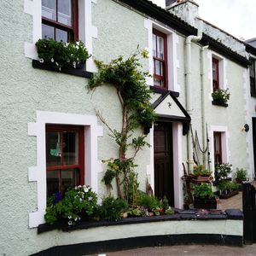
{"label": "thinner, straighter pale drainpipe, right one of the two", "polygon": [[[209,45],[201,47],[201,128],[202,128],[202,148],[203,150],[207,147],[206,137],[206,111],[205,111],[205,49]],[[208,154],[208,153],[206,153]],[[207,166],[207,156],[203,154],[203,165]]]}

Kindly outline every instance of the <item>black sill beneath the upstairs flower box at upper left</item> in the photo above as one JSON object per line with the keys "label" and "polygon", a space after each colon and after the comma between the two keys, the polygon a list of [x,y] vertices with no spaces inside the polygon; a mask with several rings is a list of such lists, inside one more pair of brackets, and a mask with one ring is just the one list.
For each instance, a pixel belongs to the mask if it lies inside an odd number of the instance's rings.
{"label": "black sill beneath the upstairs flower box at upper left", "polygon": [[78,77],[83,77],[86,79],[90,79],[93,75],[93,73],[85,71],[83,69],[76,69],[76,68],[63,68],[61,71],[56,70],[53,67],[50,67],[48,64],[45,63],[40,63],[37,60],[32,60],[32,67],[34,68],[39,68],[39,69],[44,69],[44,70],[49,70],[49,71],[54,71],[56,73],[67,73],[70,75],[78,76]]}

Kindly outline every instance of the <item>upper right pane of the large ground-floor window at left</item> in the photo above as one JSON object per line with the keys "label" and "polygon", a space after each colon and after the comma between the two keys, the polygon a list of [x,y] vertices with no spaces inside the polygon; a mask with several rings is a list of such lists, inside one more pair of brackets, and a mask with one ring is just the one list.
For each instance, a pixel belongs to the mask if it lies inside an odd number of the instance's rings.
{"label": "upper right pane of the large ground-floor window at left", "polygon": [[63,132],[64,165],[79,164],[79,133]]}

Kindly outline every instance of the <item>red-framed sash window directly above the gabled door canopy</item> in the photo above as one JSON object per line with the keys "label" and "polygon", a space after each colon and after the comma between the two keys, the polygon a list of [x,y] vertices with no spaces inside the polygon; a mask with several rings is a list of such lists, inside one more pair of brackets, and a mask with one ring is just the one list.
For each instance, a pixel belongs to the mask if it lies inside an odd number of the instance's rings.
{"label": "red-framed sash window directly above the gabled door canopy", "polygon": [[154,86],[167,86],[167,37],[166,34],[153,30],[153,65]]}

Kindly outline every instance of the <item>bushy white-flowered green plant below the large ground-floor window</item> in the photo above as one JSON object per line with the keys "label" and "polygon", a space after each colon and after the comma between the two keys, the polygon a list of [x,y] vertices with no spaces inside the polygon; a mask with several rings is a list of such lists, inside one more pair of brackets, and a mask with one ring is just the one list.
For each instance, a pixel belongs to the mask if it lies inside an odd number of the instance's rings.
{"label": "bushy white-flowered green plant below the large ground-floor window", "polygon": [[68,225],[76,224],[81,218],[90,217],[96,209],[97,196],[89,186],[78,186],[68,189],[63,199],[46,208],[44,218],[47,223],[54,224],[64,218]]}

